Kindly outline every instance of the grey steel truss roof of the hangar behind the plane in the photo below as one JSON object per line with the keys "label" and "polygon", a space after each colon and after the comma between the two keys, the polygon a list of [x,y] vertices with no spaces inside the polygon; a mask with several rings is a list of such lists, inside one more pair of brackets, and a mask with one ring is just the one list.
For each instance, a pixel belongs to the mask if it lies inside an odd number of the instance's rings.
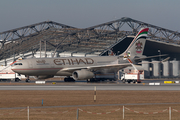
{"label": "grey steel truss roof of the hangar behind the plane", "polygon": [[[150,39],[180,44],[180,33],[123,17],[100,25],[79,29],[45,21],[0,33],[0,60],[40,49],[54,52],[103,53],[128,35],[149,27]],[[127,29],[127,30],[125,30]],[[40,43],[47,43],[47,46]]]}

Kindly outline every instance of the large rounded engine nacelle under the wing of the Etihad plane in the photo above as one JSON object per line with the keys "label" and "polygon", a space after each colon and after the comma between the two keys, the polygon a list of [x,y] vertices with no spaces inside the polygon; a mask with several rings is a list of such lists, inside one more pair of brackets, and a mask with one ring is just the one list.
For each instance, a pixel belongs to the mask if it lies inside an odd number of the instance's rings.
{"label": "large rounded engine nacelle under the wing of the Etihad plane", "polygon": [[94,77],[94,73],[85,69],[77,70],[72,73],[75,80],[86,80]]}

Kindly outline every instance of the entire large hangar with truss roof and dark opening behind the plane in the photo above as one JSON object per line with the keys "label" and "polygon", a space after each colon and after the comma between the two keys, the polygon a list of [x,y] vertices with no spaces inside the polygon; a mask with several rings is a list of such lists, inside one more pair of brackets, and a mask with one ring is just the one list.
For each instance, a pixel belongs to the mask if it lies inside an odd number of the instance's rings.
{"label": "entire large hangar with truss roof and dark opening behind the plane", "polygon": [[179,65],[179,32],[127,17],[84,29],[44,21],[1,32],[0,64],[6,66],[18,57],[101,56],[108,55],[111,50],[118,55],[142,27],[149,28],[143,55],[167,54]]}

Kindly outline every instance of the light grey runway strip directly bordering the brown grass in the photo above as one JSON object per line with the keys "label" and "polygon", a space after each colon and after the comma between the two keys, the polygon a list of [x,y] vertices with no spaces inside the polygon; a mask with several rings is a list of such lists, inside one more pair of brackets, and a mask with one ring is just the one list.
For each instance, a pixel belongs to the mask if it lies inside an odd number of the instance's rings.
{"label": "light grey runway strip directly bordering the brown grass", "polygon": [[179,84],[171,85],[126,85],[126,84],[88,84],[88,85],[18,85],[18,86],[0,86],[0,90],[180,90]]}

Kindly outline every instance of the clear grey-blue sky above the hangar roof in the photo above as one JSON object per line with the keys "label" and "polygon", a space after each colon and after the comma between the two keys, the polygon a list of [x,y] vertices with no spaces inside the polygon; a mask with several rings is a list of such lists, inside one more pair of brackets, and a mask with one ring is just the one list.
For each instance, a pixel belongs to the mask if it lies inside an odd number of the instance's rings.
{"label": "clear grey-blue sky above the hangar roof", "polygon": [[0,1],[0,32],[47,20],[86,28],[122,17],[180,32],[180,0]]}

